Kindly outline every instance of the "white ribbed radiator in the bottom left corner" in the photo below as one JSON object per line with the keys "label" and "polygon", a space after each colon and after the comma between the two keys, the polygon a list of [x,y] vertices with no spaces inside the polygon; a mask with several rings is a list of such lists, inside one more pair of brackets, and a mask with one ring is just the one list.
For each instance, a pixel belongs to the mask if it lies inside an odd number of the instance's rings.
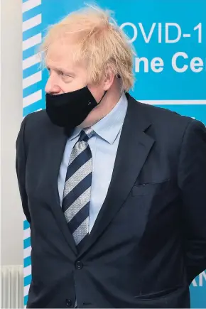
{"label": "white ribbed radiator in the bottom left corner", "polygon": [[1,308],[23,308],[23,266],[1,266]]}

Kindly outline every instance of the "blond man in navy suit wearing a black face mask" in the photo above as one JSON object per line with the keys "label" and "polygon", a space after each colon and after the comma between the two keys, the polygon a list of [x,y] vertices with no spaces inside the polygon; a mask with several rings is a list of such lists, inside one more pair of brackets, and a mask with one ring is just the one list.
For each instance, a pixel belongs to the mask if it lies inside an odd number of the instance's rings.
{"label": "blond man in navy suit wearing a black face mask", "polygon": [[16,143],[28,308],[188,308],[206,269],[206,130],[129,95],[132,50],[87,8],[43,43],[46,109]]}

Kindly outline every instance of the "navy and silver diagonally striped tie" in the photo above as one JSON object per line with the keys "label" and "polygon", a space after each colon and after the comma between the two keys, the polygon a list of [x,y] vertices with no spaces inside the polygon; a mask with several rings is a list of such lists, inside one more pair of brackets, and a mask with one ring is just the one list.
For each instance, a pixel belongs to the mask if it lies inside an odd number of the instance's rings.
{"label": "navy and silver diagonally striped tie", "polygon": [[92,134],[91,128],[82,130],[72,149],[63,193],[63,212],[78,251],[89,232],[92,153],[87,141]]}

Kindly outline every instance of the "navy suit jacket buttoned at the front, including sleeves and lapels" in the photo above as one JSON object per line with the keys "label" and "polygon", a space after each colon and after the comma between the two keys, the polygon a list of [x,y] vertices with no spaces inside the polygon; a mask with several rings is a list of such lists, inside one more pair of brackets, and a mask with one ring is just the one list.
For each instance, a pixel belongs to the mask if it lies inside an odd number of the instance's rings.
{"label": "navy suit jacket buttoned at the front, including sleeves and lapels", "polygon": [[16,171],[31,224],[28,308],[72,308],[75,298],[78,308],[190,307],[189,285],[206,269],[206,129],[126,95],[107,197],[79,253],[58,195],[67,134],[45,110],[23,119]]}

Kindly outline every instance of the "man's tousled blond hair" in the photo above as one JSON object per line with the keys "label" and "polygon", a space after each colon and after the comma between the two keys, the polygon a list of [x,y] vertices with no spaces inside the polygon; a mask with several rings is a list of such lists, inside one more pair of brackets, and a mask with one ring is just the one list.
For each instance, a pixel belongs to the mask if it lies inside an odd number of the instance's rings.
{"label": "man's tousled blond hair", "polygon": [[98,84],[109,67],[114,75],[121,77],[123,90],[128,92],[133,87],[134,48],[112,18],[111,11],[87,6],[67,15],[49,28],[41,46],[44,57],[50,43],[57,39],[65,42],[67,38],[77,43],[74,60],[86,61],[89,82]]}

